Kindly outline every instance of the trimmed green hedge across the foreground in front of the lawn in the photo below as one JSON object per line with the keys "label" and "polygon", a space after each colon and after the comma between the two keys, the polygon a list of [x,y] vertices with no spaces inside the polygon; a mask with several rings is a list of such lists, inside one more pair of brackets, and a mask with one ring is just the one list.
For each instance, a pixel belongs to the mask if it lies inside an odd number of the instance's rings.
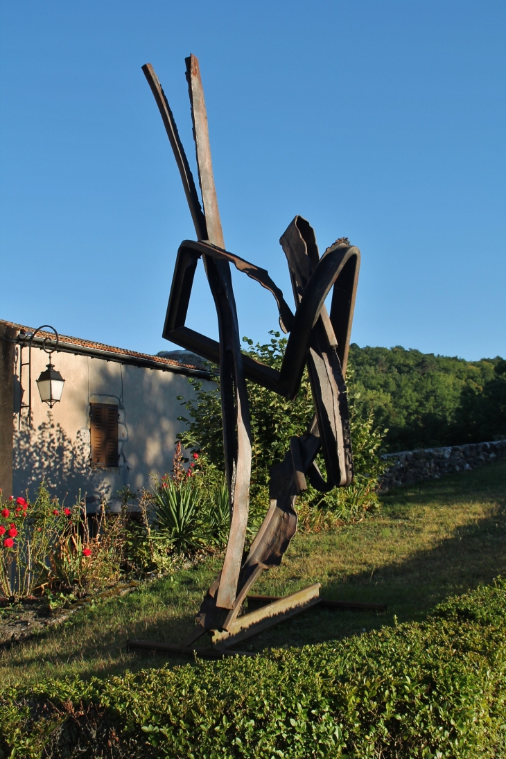
{"label": "trimmed green hedge across the foreground in front of the lawn", "polygon": [[3,756],[506,757],[506,581],[423,623],[4,691]]}

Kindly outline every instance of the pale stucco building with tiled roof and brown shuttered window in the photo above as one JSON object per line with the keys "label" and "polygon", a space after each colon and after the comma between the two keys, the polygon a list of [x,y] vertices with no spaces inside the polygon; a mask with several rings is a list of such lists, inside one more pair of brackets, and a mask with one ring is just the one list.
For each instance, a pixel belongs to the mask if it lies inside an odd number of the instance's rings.
{"label": "pale stucco building with tiled roof and brown shuttered window", "polygon": [[36,380],[49,363],[44,340],[54,335],[47,329],[33,337],[29,361],[33,332],[0,320],[4,496],[28,489],[33,497],[45,479],[51,493],[66,502],[81,491],[90,512],[102,499],[118,508],[122,487],[148,487],[151,474],[170,471],[184,427],[178,395],[189,398],[188,377],[206,383],[209,371],[188,351],[152,356],[60,335],[51,362],[64,389],[60,402],[49,408]]}

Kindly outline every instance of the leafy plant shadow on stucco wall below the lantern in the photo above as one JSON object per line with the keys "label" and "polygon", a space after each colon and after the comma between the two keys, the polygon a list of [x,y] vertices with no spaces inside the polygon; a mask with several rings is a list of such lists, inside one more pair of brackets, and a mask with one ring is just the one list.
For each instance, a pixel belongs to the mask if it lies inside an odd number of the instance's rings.
{"label": "leafy plant shadow on stucco wall below the lantern", "polygon": [[110,496],[110,485],[100,470],[90,466],[90,444],[77,435],[71,440],[52,414],[35,430],[14,432],[14,496],[29,490],[33,498],[42,480],[52,495],[74,502],[81,491],[86,502],[99,502]]}

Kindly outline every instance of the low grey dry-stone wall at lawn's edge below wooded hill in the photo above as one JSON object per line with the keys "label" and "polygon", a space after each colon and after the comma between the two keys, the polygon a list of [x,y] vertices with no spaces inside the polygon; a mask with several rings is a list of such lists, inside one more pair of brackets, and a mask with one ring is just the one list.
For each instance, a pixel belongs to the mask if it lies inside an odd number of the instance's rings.
{"label": "low grey dry-stone wall at lawn's edge below wooded hill", "polygon": [[437,480],[442,474],[469,471],[504,455],[506,440],[387,453],[382,458],[392,461],[392,465],[382,477],[380,490],[390,490],[392,487],[411,485],[423,480]]}

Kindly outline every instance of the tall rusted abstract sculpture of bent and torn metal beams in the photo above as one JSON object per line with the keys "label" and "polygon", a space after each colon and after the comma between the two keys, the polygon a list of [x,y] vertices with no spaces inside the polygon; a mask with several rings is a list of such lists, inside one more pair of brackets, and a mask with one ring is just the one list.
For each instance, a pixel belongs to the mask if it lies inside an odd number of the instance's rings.
{"label": "tall rusted abstract sculpture of bent and torn metal beams", "polygon": [[[333,487],[349,485],[353,479],[344,376],[360,251],[343,238],[325,250],[320,258],[313,229],[305,219],[296,216],[280,240],[288,260],[294,291],[295,313],[292,313],[281,290],[265,269],[225,249],[212,175],[199,62],[194,55],[190,55],[186,58],[186,65],[203,209],[165,93],[152,66],[143,66],[178,164],[197,237],[197,241],[185,240],[179,247],[163,337],[219,365],[231,528],[222,572],[203,600],[193,635],[182,647],[171,644],[137,645],[142,641],[130,641],[130,645],[191,650],[193,641],[206,631],[212,631],[215,647],[225,652],[227,645],[254,635],[320,600],[319,584],[316,584],[292,596],[275,600],[256,612],[240,616],[253,582],[264,570],[281,563],[294,537],[297,530],[294,507],[298,493],[306,490],[306,477],[316,490],[324,493]],[[193,276],[200,259],[203,260],[218,314],[219,343],[184,326]],[[254,361],[240,351],[231,263],[259,282],[275,298],[281,329],[289,333],[279,371]],[[331,289],[332,307],[328,313],[325,298]],[[291,438],[284,460],[271,468],[270,507],[249,553],[244,557],[251,472],[246,379],[293,400],[304,367],[307,367],[313,392],[313,422],[302,436]],[[325,460],[326,481],[315,461],[320,450]]]}

